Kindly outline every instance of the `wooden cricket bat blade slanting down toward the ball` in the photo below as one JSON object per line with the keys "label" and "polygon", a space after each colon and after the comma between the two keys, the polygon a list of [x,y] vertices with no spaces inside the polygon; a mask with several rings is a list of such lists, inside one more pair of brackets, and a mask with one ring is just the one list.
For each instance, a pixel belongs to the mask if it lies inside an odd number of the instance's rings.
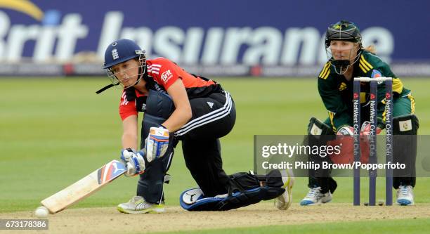
{"label": "wooden cricket bat blade slanting down toward the ball", "polygon": [[71,186],[47,197],[41,201],[41,204],[48,209],[49,213],[56,214],[95,193],[125,172],[126,168],[122,162],[112,160]]}

